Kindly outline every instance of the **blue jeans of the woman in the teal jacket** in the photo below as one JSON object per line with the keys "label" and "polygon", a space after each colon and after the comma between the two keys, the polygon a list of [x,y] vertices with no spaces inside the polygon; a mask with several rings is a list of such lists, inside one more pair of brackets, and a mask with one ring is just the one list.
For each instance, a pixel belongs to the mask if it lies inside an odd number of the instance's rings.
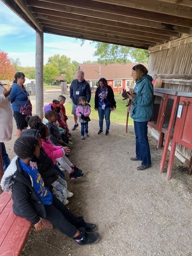
{"label": "blue jeans of the woman in the teal jacket", "polygon": [[148,122],[134,121],[136,136],[136,158],[142,159],[142,165],[151,165],[150,147],[147,137]]}

